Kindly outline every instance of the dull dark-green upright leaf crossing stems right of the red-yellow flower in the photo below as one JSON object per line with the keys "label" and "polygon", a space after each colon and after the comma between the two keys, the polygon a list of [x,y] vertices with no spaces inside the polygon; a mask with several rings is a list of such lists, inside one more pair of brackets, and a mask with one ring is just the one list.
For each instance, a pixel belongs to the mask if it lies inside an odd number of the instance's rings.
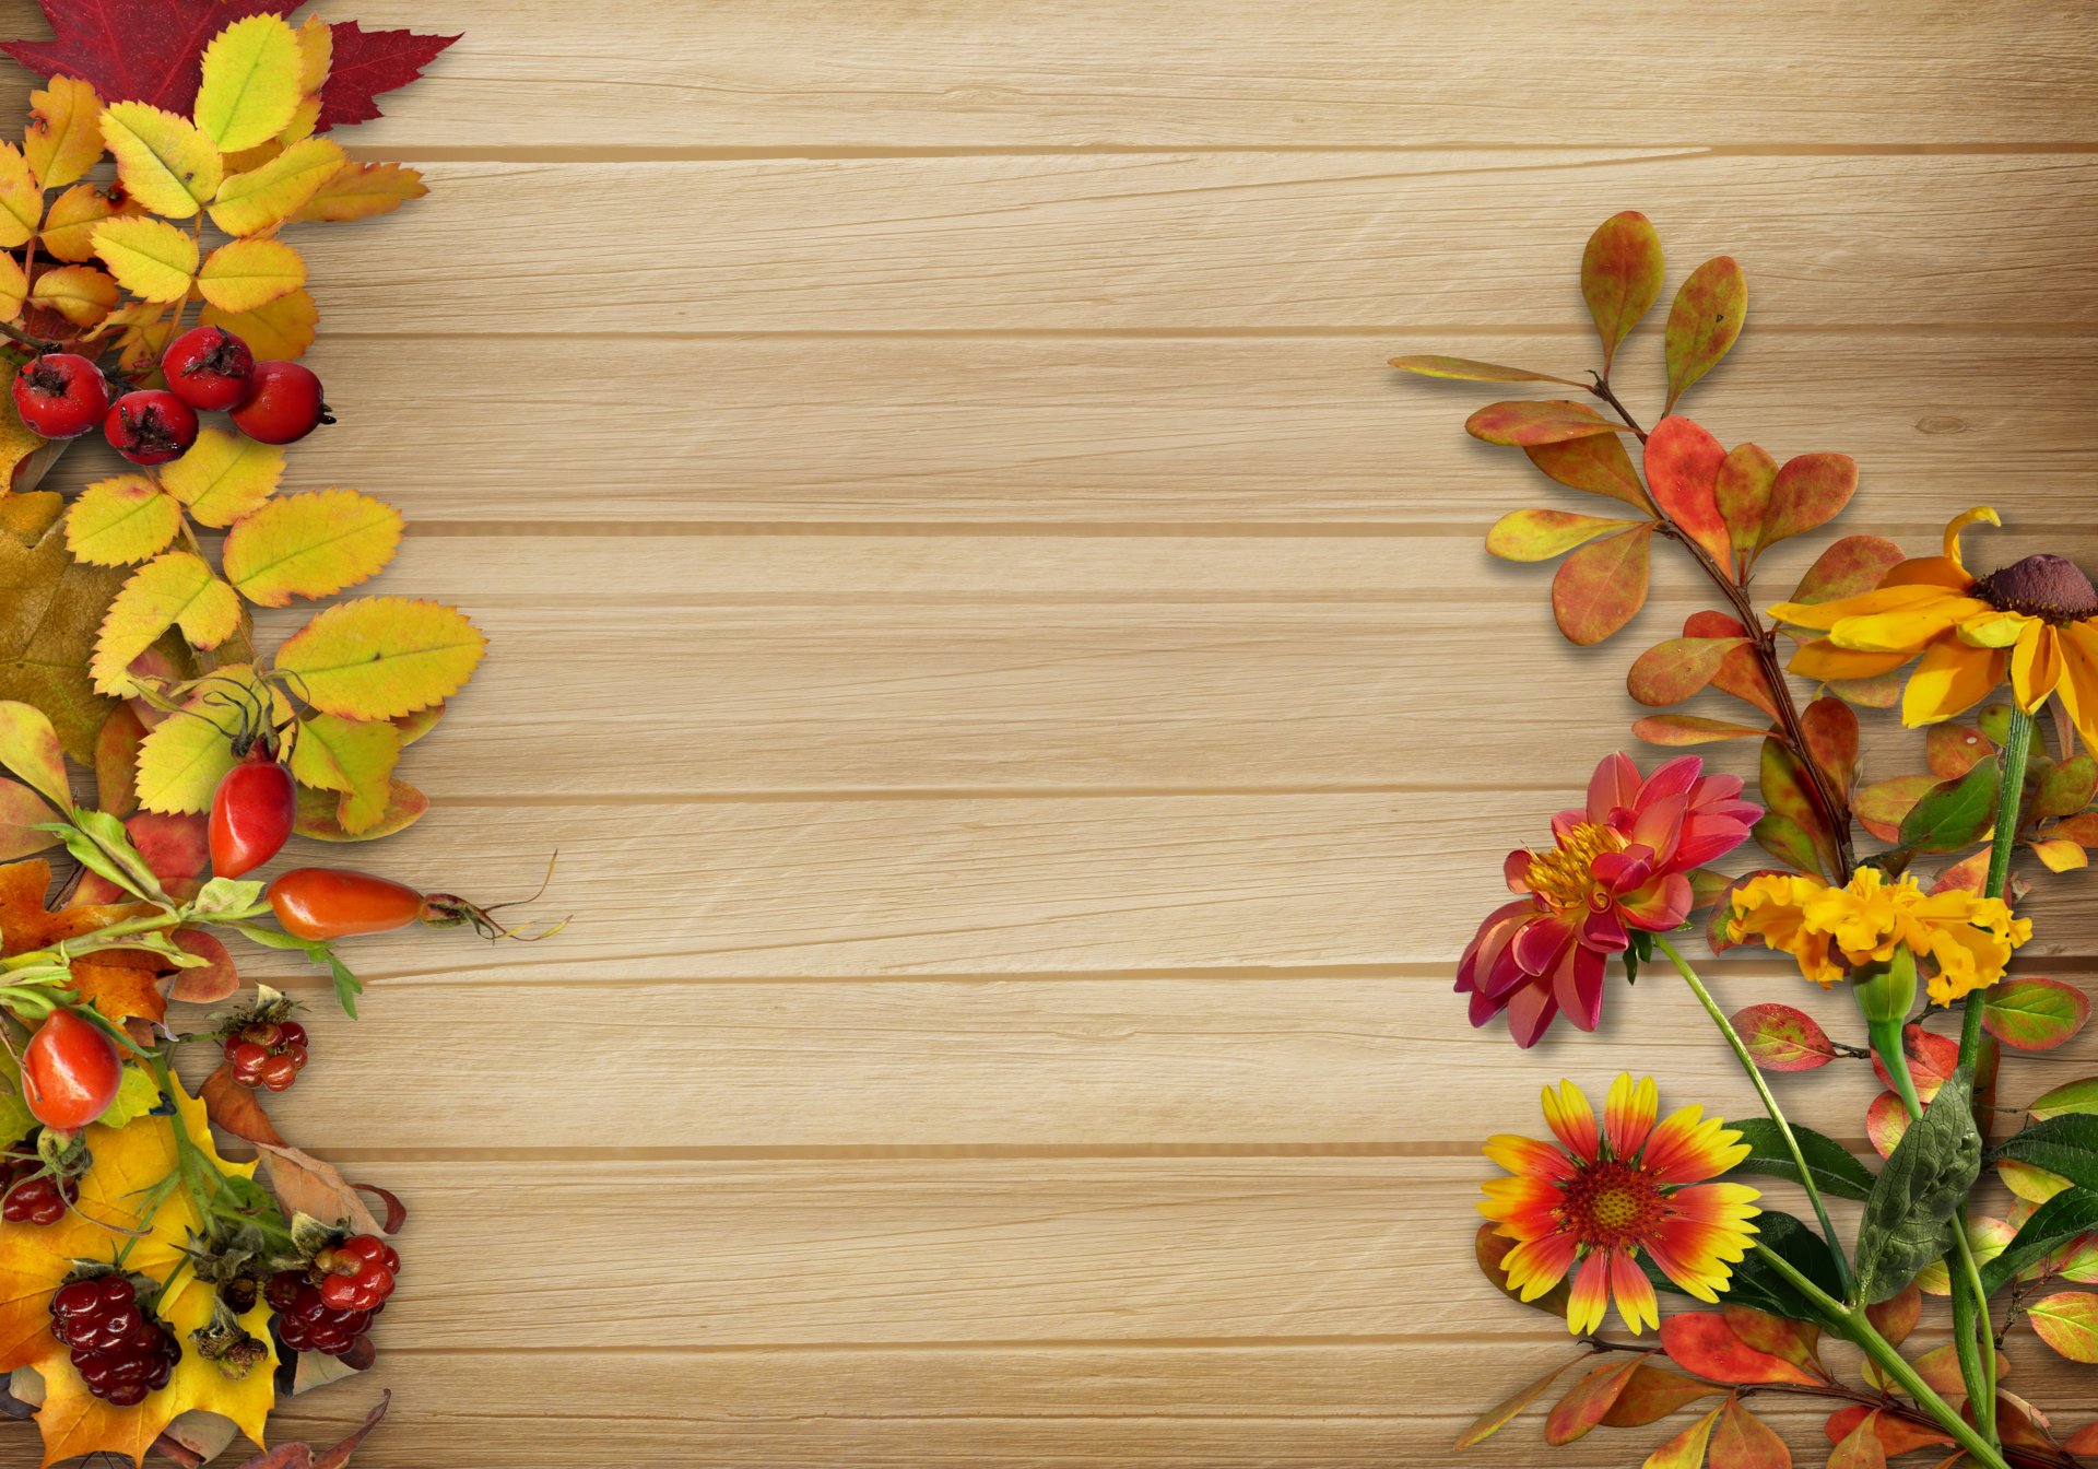
{"label": "dull dark-green upright leaf crossing stems right of the red-yellow flower", "polygon": [[1857,1295],[1876,1305],[1943,1257],[1953,1211],[1981,1175],[1974,1072],[1962,1066],[1894,1144],[1857,1226]]}

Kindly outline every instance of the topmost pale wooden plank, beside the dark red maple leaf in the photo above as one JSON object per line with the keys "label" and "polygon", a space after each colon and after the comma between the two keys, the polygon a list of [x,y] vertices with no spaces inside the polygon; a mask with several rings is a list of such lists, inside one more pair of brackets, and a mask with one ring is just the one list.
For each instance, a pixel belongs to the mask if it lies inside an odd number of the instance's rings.
{"label": "topmost pale wooden plank, beside the dark red maple leaf", "polygon": [[[46,34],[29,0],[4,17]],[[2004,0],[365,0],[357,19],[466,34],[346,134],[388,153],[2092,141],[2075,8]]]}

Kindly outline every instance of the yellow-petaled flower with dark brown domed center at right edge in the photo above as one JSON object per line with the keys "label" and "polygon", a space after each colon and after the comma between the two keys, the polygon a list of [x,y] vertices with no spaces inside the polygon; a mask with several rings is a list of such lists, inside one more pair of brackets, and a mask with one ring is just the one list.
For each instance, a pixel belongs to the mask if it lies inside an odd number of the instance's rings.
{"label": "yellow-petaled flower with dark brown domed center at right edge", "polygon": [[2067,556],[2027,556],[1976,577],[1960,531],[2001,525],[1981,506],[1945,527],[1945,554],[1905,560],[1878,590],[1836,602],[1779,602],[1771,615],[1823,632],[1792,659],[1815,680],[1874,678],[1918,659],[1901,697],[1903,724],[1936,724],[1987,699],[2004,676],[2031,714],[2060,693],[2088,745],[2098,745],[2098,590]]}

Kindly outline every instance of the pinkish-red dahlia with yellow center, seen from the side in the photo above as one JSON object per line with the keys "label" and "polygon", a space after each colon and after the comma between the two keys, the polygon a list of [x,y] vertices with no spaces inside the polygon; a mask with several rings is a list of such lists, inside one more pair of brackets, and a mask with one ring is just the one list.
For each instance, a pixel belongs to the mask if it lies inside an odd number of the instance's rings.
{"label": "pinkish-red dahlia with yellow center, seen from the side", "polygon": [[1456,972],[1471,1022],[1508,1012],[1517,1045],[1536,1045],[1561,1009],[1594,1030],[1609,955],[1630,946],[1634,928],[1683,923],[1687,873],[1741,846],[1760,816],[1739,776],[1704,774],[1697,755],[1645,779],[1630,755],[1607,755],[1588,781],[1588,808],[1553,816],[1553,850],[1508,852],[1508,888],[1523,896],[1487,915]]}

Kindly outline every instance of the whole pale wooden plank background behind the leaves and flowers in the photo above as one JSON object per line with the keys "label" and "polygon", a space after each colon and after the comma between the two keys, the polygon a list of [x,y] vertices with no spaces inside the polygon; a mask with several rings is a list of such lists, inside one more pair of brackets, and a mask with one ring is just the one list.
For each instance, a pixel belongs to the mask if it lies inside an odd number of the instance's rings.
{"label": "whole pale wooden plank background behind the leaves and flowers", "polygon": [[[1383,361],[1586,363],[1603,216],[1743,260],[1693,409],[1855,453],[1848,529],[2098,552],[2085,4],[336,13],[466,40],[348,139],[432,195],[313,237],[344,426],[294,476],[401,504],[386,590],[495,638],[373,860],[560,848],[577,913],[361,944],[279,1108],[413,1209],[382,1366],[279,1417],[394,1387],[373,1469],[1443,1465],[1565,1356],[1469,1263],[1481,1137],[1620,1066],[1752,1102],[1662,980],[1534,1056],[1448,993],[1630,648],[1483,556],[1540,485]],[[2088,978],[2088,900],[2035,913]],[[1787,1089],[1853,1140],[1869,1091]]]}

